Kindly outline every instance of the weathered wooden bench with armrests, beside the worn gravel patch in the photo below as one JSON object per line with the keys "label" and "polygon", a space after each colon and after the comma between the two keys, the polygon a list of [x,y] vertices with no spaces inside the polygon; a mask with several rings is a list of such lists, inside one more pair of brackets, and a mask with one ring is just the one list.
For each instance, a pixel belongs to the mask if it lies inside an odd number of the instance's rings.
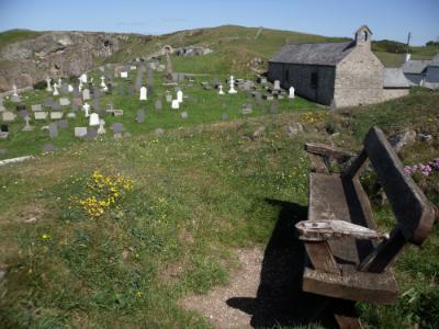
{"label": "weathered wooden bench with armrests, beside the worn gravel patch", "polygon": [[[303,290],[329,297],[330,304],[340,300],[340,305],[352,308],[357,300],[389,304],[397,299],[390,264],[408,242],[423,243],[437,215],[404,172],[380,128],[369,131],[363,146],[341,173],[329,173],[325,159],[344,161],[352,155],[322,144],[306,144],[314,171],[309,175],[308,220],[296,224],[308,260]],[[368,159],[396,217],[396,226],[389,235],[376,230],[368,195],[359,181]],[[335,310],[341,328],[361,328],[356,316],[341,314],[342,310]]]}

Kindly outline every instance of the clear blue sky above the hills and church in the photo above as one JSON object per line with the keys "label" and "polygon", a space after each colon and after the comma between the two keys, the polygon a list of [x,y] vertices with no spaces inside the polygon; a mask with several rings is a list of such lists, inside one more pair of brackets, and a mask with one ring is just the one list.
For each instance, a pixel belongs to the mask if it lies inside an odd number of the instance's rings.
{"label": "clear blue sky above the hills and church", "polygon": [[0,0],[0,31],[164,34],[224,24],[424,45],[439,38],[439,0]]}

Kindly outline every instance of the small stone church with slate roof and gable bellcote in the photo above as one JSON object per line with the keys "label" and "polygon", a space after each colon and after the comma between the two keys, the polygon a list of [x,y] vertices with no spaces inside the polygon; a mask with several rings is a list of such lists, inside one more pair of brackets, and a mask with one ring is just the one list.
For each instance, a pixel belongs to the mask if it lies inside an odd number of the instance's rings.
{"label": "small stone church with slate roof and gable bellcote", "polygon": [[386,72],[371,50],[372,32],[363,25],[345,43],[284,46],[269,60],[268,79],[294,87],[306,99],[337,107],[382,102],[408,94],[398,72]]}

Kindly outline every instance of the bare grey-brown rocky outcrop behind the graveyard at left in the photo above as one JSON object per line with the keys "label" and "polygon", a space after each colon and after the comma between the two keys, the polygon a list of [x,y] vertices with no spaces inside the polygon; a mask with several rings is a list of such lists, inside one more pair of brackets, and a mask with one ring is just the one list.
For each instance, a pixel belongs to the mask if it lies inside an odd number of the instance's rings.
{"label": "bare grey-brown rocky outcrop behind the graveyard at left", "polygon": [[0,91],[24,88],[49,77],[79,76],[99,58],[122,50],[130,38],[149,36],[94,32],[47,32],[0,50]]}

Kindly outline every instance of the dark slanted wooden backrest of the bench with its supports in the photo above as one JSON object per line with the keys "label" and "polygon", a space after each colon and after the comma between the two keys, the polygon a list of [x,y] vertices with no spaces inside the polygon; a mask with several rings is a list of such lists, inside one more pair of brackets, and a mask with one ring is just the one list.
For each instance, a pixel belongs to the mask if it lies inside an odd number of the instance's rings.
{"label": "dark slanted wooden backrest of the bench with its supports", "polygon": [[362,271],[382,272],[406,242],[423,243],[432,229],[435,207],[404,171],[380,128],[372,127],[363,144],[363,151],[347,170],[348,177],[354,177],[369,158],[397,220],[390,239],[379,245],[359,266]]}

